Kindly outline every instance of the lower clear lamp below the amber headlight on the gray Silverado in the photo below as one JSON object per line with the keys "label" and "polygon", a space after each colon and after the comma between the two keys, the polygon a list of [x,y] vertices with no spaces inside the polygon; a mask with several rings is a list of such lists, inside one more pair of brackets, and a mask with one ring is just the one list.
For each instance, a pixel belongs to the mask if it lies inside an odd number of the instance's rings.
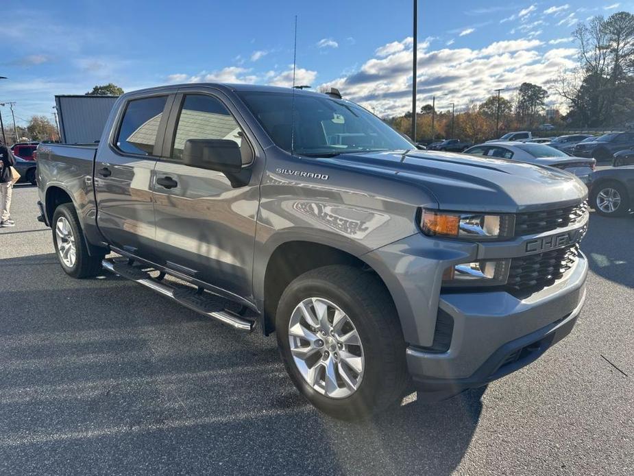
{"label": "lower clear lamp below the amber headlight on the gray Silverado", "polygon": [[510,259],[475,261],[448,267],[443,286],[500,286],[509,278]]}

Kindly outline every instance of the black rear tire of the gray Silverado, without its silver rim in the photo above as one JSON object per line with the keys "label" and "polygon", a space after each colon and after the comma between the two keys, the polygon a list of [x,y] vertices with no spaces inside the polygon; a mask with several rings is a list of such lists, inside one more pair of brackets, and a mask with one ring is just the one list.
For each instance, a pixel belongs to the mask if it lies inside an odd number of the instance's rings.
{"label": "black rear tire of the gray Silverado, without its silver rim", "polygon": [[[73,233],[74,246],[75,246],[75,261],[72,265],[64,263],[60,254],[60,243],[58,243],[58,234],[56,233],[56,227],[60,218],[65,218],[68,222],[71,231]],[[97,276],[101,272],[101,260],[106,255],[103,254],[88,254],[88,246],[84,240],[84,232],[80,225],[80,219],[77,217],[77,212],[73,204],[64,203],[58,206],[53,213],[53,222],[51,224],[53,228],[53,246],[55,246],[55,254],[62,265],[62,269],[66,274],[73,278],[92,278]]]}

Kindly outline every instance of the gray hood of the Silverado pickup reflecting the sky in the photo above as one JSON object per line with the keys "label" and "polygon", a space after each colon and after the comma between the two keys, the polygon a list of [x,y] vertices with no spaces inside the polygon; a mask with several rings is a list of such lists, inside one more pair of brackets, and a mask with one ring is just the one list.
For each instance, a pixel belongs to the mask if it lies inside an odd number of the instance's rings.
{"label": "gray hood of the Silverado pickup reflecting the sky", "polygon": [[501,158],[393,151],[324,160],[419,185],[445,210],[517,213],[576,204],[587,195],[583,182],[563,170]]}

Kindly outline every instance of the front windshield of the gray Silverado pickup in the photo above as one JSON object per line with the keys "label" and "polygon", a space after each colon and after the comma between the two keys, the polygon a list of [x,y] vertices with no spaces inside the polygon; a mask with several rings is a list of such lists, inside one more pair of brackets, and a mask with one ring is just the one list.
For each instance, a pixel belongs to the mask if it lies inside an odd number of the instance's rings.
{"label": "front windshield of the gray Silverado pickup", "polygon": [[[349,101],[324,95],[239,93],[276,145],[306,156],[333,156],[414,145],[378,117]],[[291,121],[295,109],[295,120]],[[291,123],[292,140],[291,140]]]}

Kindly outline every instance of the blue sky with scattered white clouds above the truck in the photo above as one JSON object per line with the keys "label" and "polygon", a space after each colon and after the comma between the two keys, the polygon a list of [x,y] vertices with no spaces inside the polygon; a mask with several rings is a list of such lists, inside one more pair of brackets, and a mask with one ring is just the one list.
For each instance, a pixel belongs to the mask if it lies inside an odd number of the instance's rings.
{"label": "blue sky with scattered white clouds above the truck", "polygon": [[[182,5],[182,8],[179,6]],[[54,96],[114,82],[334,86],[377,115],[411,108],[412,1],[3,0],[0,103],[52,120]],[[497,88],[549,87],[576,64],[571,33],[634,0],[419,1],[417,100],[456,110]],[[550,104],[561,99],[551,95]],[[8,106],[1,108],[5,124]]]}

